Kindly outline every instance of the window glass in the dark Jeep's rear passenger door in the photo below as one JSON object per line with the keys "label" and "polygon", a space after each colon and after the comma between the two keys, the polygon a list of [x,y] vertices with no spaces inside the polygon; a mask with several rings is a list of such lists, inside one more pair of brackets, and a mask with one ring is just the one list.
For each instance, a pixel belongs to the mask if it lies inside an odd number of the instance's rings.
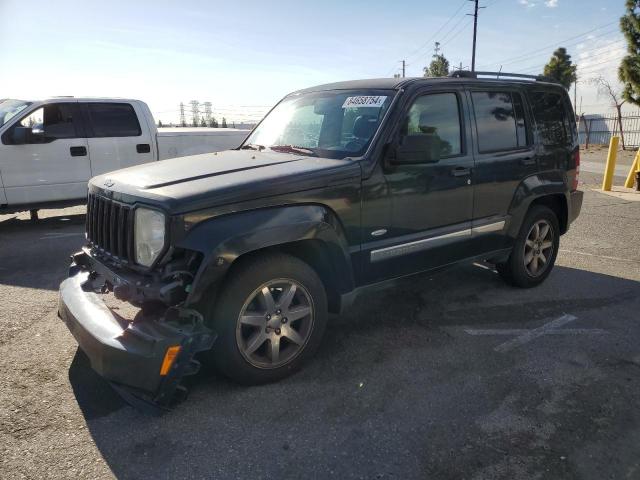
{"label": "window glass in the dark Jeep's rear passenger door", "polygon": [[527,145],[527,125],[520,94],[472,92],[471,97],[480,153],[515,150]]}

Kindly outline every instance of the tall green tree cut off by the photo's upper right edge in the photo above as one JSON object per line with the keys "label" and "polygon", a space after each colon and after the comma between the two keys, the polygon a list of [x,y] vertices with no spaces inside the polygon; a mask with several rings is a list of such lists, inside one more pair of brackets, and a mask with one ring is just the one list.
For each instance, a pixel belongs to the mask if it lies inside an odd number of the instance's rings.
{"label": "tall green tree cut off by the photo's upper right edge", "polygon": [[618,68],[622,82],[622,98],[640,105],[640,0],[627,0],[626,13],[620,18],[620,29],[627,40],[627,55]]}

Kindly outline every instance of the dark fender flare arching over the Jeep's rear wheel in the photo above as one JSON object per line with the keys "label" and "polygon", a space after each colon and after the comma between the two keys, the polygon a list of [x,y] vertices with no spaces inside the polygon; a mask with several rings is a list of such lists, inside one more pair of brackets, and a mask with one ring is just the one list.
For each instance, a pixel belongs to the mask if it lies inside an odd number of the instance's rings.
{"label": "dark fender flare arching over the Jeep's rear wheel", "polygon": [[543,197],[562,197],[562,207],[569,206],[569,188],[567,179],[563,172],[554,170],[540,172],[525,178],[513,195],[509,207],[509,227],[507,235],[516,238],[520,231],[520,226],[531,204]]}

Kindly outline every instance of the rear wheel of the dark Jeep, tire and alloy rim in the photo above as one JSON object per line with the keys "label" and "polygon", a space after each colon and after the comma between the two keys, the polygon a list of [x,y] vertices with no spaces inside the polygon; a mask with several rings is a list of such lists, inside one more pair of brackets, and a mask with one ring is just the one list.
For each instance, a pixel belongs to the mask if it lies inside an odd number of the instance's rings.
{"label": "rear wheel of the dark Jeep, tire and alloy rim", "polygon": [[551,273],[559,245],[558,217],[553,210],[542,205],[534,205],[522,222],[509,259],[497,264],[496,270],[510,285],[520,288],[538,286]]}

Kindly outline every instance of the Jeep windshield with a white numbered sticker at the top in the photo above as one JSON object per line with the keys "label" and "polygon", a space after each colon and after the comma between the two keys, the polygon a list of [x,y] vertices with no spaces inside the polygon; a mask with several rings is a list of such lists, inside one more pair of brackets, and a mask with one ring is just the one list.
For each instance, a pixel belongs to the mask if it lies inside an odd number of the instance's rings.
{"label": "Jeep windshield with a white numbered sticker at the top", "polygon": [[330,90],[292,95],[256,127],[242,148],[341,159],[367,150],[393,90]]}

